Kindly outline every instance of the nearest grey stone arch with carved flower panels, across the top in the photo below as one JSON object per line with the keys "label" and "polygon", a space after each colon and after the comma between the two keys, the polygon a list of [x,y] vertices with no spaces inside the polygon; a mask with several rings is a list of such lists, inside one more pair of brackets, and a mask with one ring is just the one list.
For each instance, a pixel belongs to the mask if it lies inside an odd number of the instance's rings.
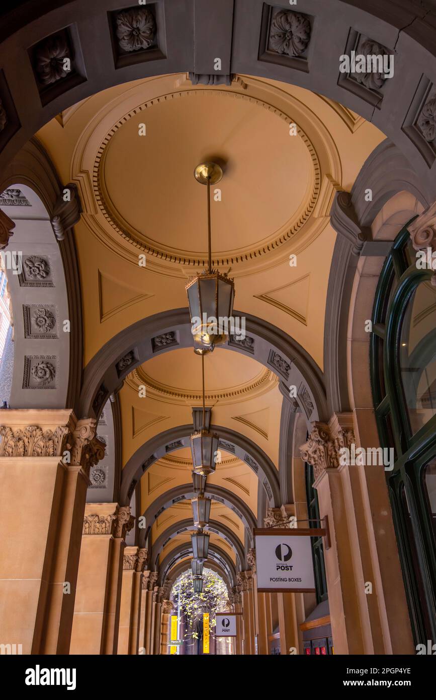
{"label": "nearest grey stone arch with carved flower panels, across the top", "polygon": [[[436,75],[430,8],[416,3],[406,8],[393,0],[370,8],[353,0],[312,0],[303,12],[284,0],[274,5],[263,0],[207,6],[196,0],[157,0],[151,8],[121,4],[64,0],[40,17],[40,6],[24,3],[10,18],[6,15],[8,21],[3,18],[2,168],[52,117],[111,85],[184,71],[194,83],[219,84],[240,73],[300,85],[372,120],[402,149],[421,180],[428,179],[434,196],[435,179],[428,176],[435,169],[435,143],[421,120]],[[152,15],[150,36],[138,50],[128,37],[117,37],[119,13],[126,10]],[[298,13],[303,26],[302,41],[291,52],[275,38],[279,12]],[[368,39],[379,52],[394,55],[391,79],[358,81],[340,73],[340,55],[349,55],[354,46],[365,55],[372,50]],[[50,55],[53,41],[60,46],[59,61],[71,60],[70,70],[47,74],[43,57]]]}

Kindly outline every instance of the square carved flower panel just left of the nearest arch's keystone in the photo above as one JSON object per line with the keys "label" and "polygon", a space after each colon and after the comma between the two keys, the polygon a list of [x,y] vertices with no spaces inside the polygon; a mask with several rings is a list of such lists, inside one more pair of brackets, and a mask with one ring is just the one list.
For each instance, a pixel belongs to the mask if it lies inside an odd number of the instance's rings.
{"label": "square carved flower panel just left of the nearest arch's keystone", "polygon": [[166,58],[162,3],[108,13],[115,68]]}

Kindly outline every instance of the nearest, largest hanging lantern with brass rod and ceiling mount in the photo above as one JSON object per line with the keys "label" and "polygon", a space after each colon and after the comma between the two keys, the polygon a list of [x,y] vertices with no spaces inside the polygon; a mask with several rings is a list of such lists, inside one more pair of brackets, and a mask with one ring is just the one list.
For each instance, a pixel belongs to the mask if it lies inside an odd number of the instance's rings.
{"label": "nearest, largest hanging lantern with brass rod and ceiling mount", "polygon": [[201,163],[194,171],[196,181],[208,186],[208,269],[189,280],[186,286],[194,344],[213,346],[225,343],[231,332],[235,284],[226,274],[212,269],[210,234],[210,186],[221,180],[217,163]]}

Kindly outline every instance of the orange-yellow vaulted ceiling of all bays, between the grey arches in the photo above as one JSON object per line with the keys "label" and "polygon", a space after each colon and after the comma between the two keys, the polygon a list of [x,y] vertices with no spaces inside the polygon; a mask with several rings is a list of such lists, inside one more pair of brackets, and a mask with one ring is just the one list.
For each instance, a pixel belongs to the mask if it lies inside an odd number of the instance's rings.
{"label": "orange-yellow vaulted ceiling of all bays, between the grey arches", "polygon": [[[111,87],[59,114],[37,137],[82,202],[75,238],[85,365],[136,321],[187,307],[185,284],[207,257],[206,193],[194,167],[219,160],[212,258],[235,279],[235,309],[282,329],[322,369],[335,244],[328,213],[335,192],[351,189],[384,139],[375,126],[300,87],[243,75],[228,87],[193,86],[182,73]],[[277,374],[254,356],[217,347],[205,358],[205,393],[212,423],[258,445],[277,470]],[[192,407],[201,405],[200,358],[168,347],[126,377],[119,405],[125,465],[158,433],[192,422]],[[191,468],[186,446],[154,461],[140,480],[140,512],[190,483]],[[223,449],[209,483],[257,517],[263,486],[247,461]],[[189,500],[167,507],[150,544],[189,517]],[[244,525],[228,505],[214,500],[211,518],[244,545]],[[174,533],[160,561],[188,540],[189,531]],[[214,542],[235,563],[231,542],[212,532]]]}

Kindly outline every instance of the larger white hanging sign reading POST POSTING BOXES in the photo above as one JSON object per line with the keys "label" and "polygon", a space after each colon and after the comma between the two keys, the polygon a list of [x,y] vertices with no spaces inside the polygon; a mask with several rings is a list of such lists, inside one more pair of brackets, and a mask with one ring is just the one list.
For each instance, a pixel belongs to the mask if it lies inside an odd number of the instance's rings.
{"label": "larger white hanging sign reading POST POSTING BOXES", "polygon": [[314,591],[310,536],[283,532],[255,533],[258,590]]}

